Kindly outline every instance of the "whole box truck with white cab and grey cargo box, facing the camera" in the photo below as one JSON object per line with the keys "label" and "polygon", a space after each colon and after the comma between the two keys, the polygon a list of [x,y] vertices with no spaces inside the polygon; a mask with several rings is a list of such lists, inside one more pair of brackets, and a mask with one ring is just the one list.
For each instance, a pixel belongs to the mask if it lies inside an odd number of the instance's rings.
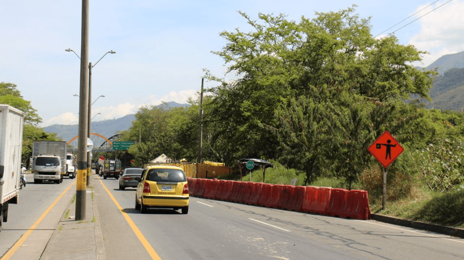
{"label": "whole box truck with white cab and grey cargo box, facing the camera", "polygon": [[34,141],[31,167],[34,183],[63,182],[63,175],[66,174],[67,147],[65,141]]}

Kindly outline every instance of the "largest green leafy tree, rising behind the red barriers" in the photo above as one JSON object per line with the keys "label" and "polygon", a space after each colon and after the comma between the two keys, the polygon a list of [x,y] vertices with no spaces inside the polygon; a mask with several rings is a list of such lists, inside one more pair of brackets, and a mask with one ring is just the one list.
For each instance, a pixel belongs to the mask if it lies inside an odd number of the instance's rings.
{"label": "largest green leafy tree, rising behind the red barriers", "polygon": [[374,39],[369,19],[354,11],[316,13],[300,23],[241,13],[253,31],[221,33],[227,44],[214,53],[238,75],[211,90],[210,113],[235,157],[226,162],[280,158],[307,180],[332,174],[351,183],[379,133],[393,129],[413,140],[407,123],[420,112],[402,101],[411,94],[429,99],[435,74],[411,65],[422,53],[413,46],[395,36]]}

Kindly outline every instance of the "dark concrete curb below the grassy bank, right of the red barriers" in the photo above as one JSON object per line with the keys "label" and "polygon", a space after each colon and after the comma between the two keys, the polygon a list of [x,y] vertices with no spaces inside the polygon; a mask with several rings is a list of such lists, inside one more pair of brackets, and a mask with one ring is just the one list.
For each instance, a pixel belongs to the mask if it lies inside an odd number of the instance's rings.
{"label": "dark concrete curb below the grassy bank, right of the red barriers", "polygon": [[462,228],[445,227],[445,226],[439,226],[439,225],[429,224],[429,223],[424,223],[424,222],[404,220],[404,219],[399,219],[395,217],[387,217],[387,216],[378,215],[378,214],[371,214],[371,219],[377,220],[379,222],[397,225],[397,226],[412,227],[416,229],[422,229],[422,230],[427,230],[427,231],[431,231],[435,233],[440,233],[443,235],[464,238],[464,229]]}

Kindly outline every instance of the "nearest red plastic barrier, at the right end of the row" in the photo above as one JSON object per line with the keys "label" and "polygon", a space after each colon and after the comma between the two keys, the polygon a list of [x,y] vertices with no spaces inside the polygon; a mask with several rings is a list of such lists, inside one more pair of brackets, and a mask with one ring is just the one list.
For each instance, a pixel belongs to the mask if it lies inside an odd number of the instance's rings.
{"label": "nearest red plastic barrier, at the right end of the row", "polygon": [[347,208],[342,217],[367,220],[371,218],[366,191],[351,190],[346,198]]}

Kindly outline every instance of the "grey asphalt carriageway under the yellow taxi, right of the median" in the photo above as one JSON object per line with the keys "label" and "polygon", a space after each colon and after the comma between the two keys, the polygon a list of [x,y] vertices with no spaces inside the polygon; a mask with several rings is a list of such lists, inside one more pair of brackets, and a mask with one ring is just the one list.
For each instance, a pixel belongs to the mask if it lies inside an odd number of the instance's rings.
{"label": "grey asphalt carriageway under the yellow taxi, right of the median", "polygon": [[135,189],[120,191],[118,180],[97,176],[93,186],[107,259],[157,259],[150,249],[163,260],[464,259],[463,239],[372,220],[196,197],[190,197],[186,215],[165,209],[140,214]]}

